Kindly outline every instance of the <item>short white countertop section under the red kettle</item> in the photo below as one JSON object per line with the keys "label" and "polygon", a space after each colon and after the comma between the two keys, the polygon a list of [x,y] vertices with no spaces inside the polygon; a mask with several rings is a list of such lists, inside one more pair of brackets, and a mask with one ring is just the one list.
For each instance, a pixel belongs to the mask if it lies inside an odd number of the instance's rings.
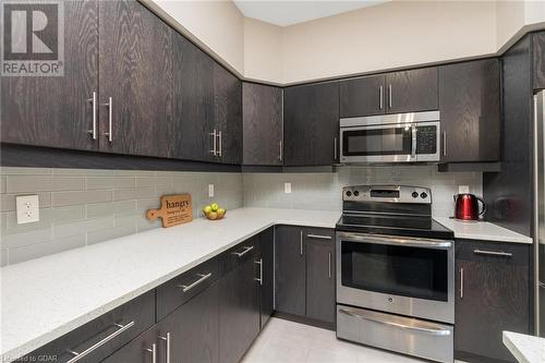
{"label": "short white countertop section under the red kettle", "polygon": [[435,218],[435,220],[452,230],[457,239],[532,243],[530,237],[485,221],[460,221],[451,218]]}

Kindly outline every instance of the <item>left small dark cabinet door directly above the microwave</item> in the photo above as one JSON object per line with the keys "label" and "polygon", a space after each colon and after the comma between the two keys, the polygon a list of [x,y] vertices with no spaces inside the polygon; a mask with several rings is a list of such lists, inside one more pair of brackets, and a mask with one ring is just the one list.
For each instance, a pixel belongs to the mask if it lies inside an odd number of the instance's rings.
{"label": "left small dark cabinet door directly above the microwave", "polygon": [[340,83],[340,117],[382,114],[386,110],[385,75],[370,75]]}

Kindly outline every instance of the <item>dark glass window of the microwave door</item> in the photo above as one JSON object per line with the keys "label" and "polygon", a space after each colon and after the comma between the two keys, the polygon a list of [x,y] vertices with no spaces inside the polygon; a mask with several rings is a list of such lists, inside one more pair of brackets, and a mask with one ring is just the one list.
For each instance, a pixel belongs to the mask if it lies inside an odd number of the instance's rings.
{"label": "dark glass window of the microwave door", "polygon": [[411,155],[411,128],[346,130],[344,156]]}

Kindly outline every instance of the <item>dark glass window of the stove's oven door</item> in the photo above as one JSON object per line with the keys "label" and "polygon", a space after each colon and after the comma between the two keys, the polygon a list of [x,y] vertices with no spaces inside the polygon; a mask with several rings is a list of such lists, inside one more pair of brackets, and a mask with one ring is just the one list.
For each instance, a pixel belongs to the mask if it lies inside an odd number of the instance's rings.
{"label": "dark glass window of the stove's oven door", "polygon": [[341,243],[342,286],[387,294],[448,301],[448,251]]}

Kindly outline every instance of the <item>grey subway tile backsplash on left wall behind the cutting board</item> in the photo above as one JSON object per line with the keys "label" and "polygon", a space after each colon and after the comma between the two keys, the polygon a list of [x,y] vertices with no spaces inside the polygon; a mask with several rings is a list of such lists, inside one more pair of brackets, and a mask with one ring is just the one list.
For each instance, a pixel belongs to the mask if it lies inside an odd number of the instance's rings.
{"label": "grey subway tile backsplash on left wall behind the cutting board", "polygon": [[[208,183],[216,197],[208,197]],[[204,204],[242,206],[241,173],[147,170],[0,168],[0,266],[161,228],[146,209],[164,194],[190,193]],[[15,196],[38,194],[40,220],[17,225]]]}

